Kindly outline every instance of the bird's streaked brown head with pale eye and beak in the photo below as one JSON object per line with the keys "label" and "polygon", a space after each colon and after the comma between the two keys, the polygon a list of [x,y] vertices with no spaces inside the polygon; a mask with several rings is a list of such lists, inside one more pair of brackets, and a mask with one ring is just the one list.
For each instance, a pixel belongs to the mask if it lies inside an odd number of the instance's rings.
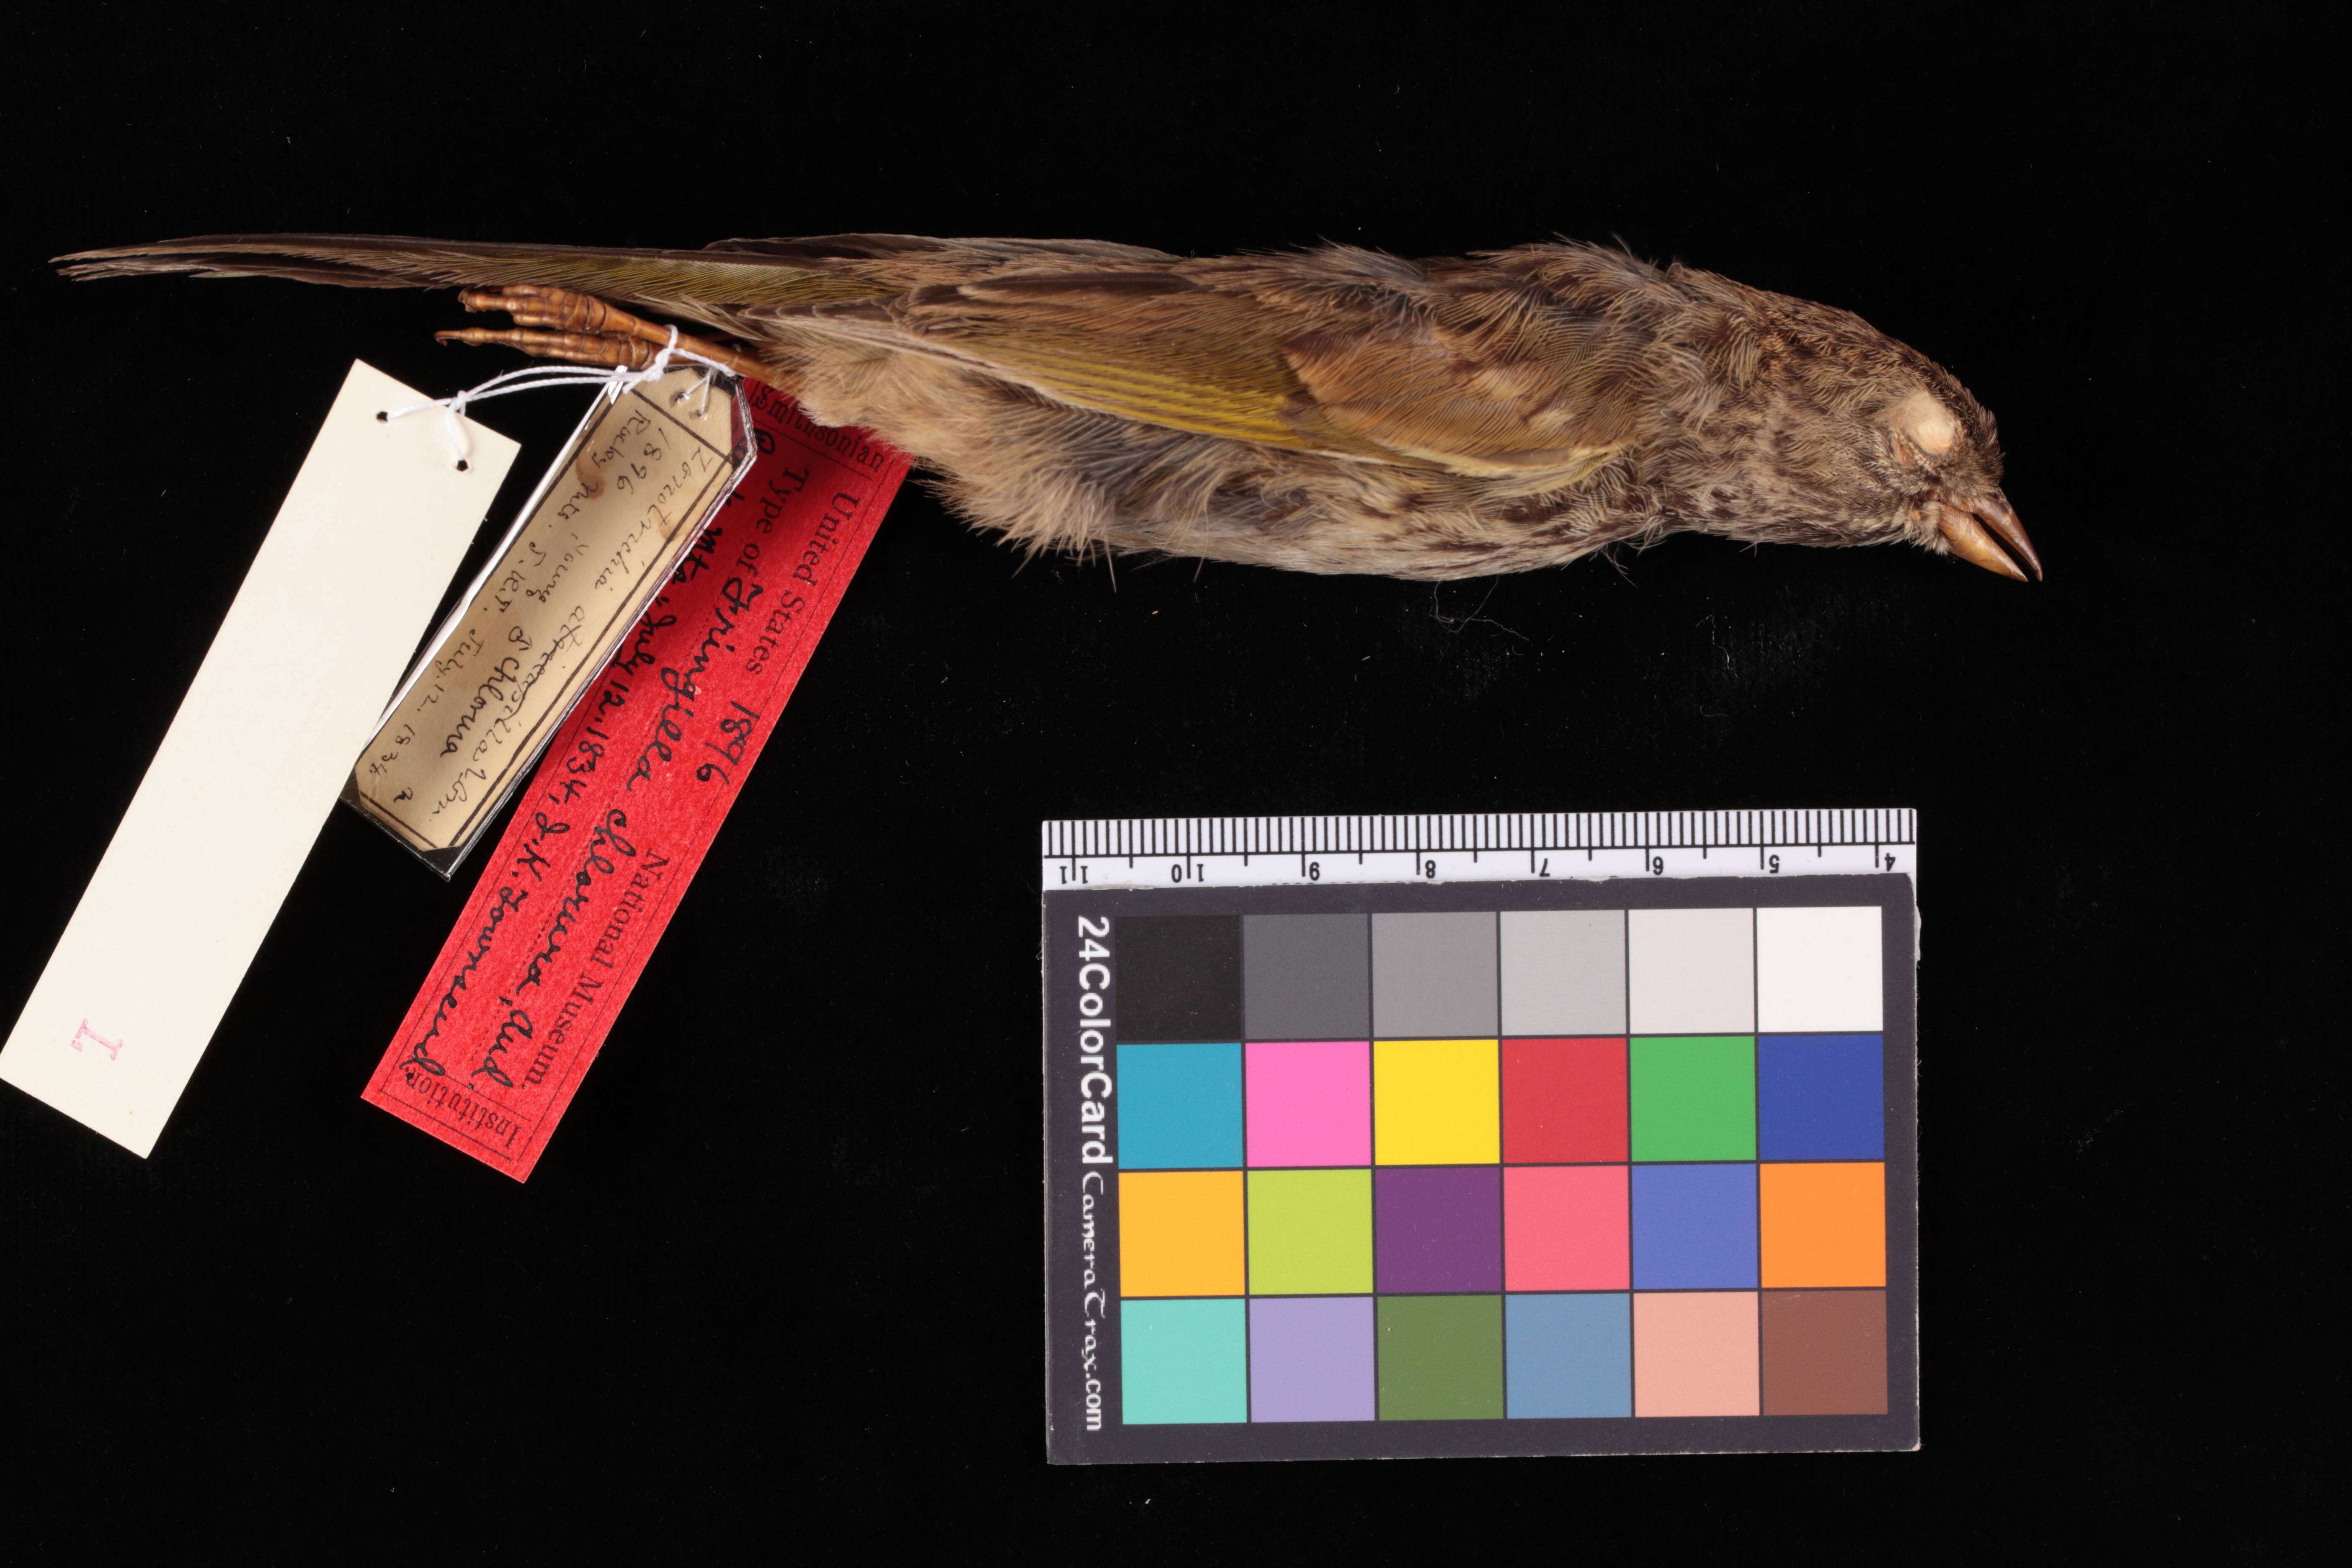
{"label": "bird's streaked brown head with pale eye and beak", "polygon": [[2002,494],[1992,414],[1947,369],[1856,315],[1762,296],[1710,353],[1700,484],[1677,487],[1708,531],[1820,545],[1915,543],[2016,578],[2042,576]]}

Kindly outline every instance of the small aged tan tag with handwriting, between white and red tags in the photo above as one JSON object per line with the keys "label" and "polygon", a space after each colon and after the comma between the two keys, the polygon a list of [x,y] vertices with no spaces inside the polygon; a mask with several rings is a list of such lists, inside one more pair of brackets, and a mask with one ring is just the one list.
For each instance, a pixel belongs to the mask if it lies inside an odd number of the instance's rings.
{"label": "small aged tan tag with handwriting, between white and red tags", "polygon": [[748,423],[701,369],[597,400],[416,663],[346,799],[452,875],[734,489]]}

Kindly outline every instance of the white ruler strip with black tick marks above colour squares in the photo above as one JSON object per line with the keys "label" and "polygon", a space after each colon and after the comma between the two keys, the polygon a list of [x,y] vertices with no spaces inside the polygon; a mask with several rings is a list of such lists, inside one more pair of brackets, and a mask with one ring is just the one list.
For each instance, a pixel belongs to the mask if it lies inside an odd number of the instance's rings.
{"label": "white ruler strip with black tick marks above colour squares", "polygon": [[1919,879],[1919,813],[1529,811],[1164,816],[1042,825],[1044,886],[1541,882],[1548,877]]}

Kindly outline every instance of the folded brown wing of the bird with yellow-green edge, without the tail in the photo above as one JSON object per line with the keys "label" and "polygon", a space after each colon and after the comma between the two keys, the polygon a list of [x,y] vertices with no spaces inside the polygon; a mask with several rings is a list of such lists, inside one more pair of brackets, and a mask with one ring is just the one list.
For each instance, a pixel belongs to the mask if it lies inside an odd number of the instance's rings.
{"label": "folded brown wing of the bird with yellow-green edge, without the tail", "polygon": [[1341,247],[1073,261],[755,315],[1120,418],[1411,468],[1573,482],[1632,435],[1639,339],[1494,268]]}

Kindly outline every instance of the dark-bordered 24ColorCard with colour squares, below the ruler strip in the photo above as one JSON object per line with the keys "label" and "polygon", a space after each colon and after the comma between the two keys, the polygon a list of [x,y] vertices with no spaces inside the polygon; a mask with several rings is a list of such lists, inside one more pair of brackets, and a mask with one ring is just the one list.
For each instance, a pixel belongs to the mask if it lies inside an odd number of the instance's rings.
{"label": "dark-bordered 24ColorCard with colour squares, below the ruler strip", "polygon": [[1917,1446],[1907,877],[1044,910],[1056,1462]]}

